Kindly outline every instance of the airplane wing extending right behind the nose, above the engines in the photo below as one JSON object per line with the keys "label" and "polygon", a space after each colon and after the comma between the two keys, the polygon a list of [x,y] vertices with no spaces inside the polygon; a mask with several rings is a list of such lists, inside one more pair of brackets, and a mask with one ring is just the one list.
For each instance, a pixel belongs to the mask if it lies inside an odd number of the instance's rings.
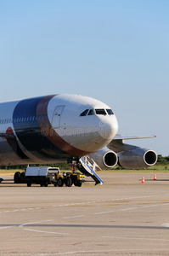
{"label": "airplane wing extending right behind the nose, above the engines", "polygon": [[120,153],[125,150],[132,150],[134,148],[138,148],[137,146],[129,145],[124,143],[125,140],[136,140],[136,139],[144,139],[144,138],[154,138],[155,135],[152,136],[132,136],[132,137],[123,137],[121,135],[116,135],[114,139],[107,145],[107,148],[115,151],[115,153]]}

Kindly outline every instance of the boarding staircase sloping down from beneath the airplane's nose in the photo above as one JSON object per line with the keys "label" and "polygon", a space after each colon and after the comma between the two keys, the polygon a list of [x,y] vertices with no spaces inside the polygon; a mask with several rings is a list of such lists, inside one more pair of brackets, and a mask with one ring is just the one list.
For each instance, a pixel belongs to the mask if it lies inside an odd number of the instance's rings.
{"label": "boarding staircase sloping down from beneath the airplane's nose", "polygon": [[96,174],[96,169],[102,170],[96,162],[90,158],[89,156],[82,157],[79,160],[79,165],[77,166],[79,171],[81,171],[84,175],[90,176],[95,181],[95,185],[100,184],[103,185],[104,181],[99,177],[98,174]]}

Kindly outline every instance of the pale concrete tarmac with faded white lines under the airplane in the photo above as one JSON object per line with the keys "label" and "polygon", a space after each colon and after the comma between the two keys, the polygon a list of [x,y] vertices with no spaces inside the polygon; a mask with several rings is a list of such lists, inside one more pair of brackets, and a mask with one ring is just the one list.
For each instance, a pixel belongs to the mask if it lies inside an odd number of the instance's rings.
{"label": "pale concrete tarmac with faded white lines under the airplane", "polygon": [[[145,183],[142,183],[144,174]],[[0,183],[0,255],[169,255],[169,173],[82,187]]]}

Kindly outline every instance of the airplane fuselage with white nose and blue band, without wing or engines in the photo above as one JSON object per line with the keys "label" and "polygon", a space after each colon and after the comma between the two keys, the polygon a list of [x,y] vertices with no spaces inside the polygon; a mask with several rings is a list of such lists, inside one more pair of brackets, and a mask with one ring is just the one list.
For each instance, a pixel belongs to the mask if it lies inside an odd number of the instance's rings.
{"label": "airplane fuselage with white nose and blue band, without wing or engines", "polygon": [[0,165],[54,163],[93,154],[117,130],[110,107],[86,96],[0,103]]}

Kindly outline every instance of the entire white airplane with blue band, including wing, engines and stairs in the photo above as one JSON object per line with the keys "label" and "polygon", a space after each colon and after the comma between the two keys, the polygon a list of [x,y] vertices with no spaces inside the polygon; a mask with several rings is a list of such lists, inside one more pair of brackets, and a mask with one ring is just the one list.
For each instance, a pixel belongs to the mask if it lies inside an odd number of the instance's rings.
{"label": "entire white airplane with blue band, including wing, engines and stairs", "polygon": [[144,137],[121,137],[117,131],[113,110],[91,97],[58,94],[1,102],[0,165],[67,161],[70,166],[76,163],[96,183],[103,181],[95,173],[95,167],[155,165],[154,150],[124,143]]}

